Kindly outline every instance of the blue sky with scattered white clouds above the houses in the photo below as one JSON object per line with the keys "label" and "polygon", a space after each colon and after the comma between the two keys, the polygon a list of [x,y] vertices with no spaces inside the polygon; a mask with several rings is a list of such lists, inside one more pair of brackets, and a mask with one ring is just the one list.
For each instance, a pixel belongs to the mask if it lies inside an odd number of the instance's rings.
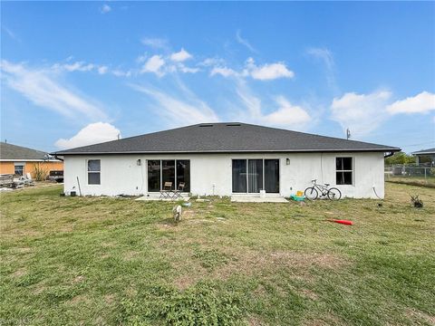
{"label": "blue sky with scattered white clouds above the houses", "polygon": [[435,3],[4,2],[2,141],[240,121],[435,147]]}

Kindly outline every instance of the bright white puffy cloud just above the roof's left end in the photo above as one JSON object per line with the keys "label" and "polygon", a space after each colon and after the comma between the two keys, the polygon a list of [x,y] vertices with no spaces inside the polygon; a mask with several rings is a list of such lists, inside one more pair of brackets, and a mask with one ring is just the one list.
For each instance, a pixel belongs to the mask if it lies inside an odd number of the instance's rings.
{"label": "bright white puffy cloud just above the roof's left end", "polygon": [[59,149],[73,149],[104,141],[116,140],[121,136],[121,131],[110,123],[95,122],[81,129],[71,139],[58,139],[55,146]]}

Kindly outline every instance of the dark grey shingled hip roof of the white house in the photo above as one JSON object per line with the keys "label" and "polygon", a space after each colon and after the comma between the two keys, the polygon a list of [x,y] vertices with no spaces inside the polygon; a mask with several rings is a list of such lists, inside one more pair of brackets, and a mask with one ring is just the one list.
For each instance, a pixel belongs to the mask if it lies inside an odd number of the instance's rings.
{"label": "dark grey shingled hip roof of the white house", "polygon": [[391,146],[337,139],[247,123],[201,123],[113,140],[54,154],[398,151]]}

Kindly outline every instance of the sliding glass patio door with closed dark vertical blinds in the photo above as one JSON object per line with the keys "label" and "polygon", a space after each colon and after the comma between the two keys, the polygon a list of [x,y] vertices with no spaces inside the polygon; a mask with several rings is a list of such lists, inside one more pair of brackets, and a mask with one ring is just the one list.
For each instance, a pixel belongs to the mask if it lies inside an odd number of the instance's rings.
{"label": "sliding glass patio door with closed dark vertical blinds", "polygon": [[233,159],[233,193],[279,193],[279,159]]}

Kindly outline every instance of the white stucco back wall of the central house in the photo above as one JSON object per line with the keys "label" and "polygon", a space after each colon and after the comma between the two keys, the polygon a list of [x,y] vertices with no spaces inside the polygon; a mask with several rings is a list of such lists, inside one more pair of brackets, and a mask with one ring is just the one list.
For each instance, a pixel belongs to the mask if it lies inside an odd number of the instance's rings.
{"label": "white stucco back wall of the central house", "polygon": [[[353,157],[353,185],[335,185],[335,158]],[[280,195],[288,197],[311,186],[311,180],[338,187],[343,197],[372,197],[373,188],[384,196],[383,153],[250,153],[250,154],[173,154],[173,155],[102,155],[65,156],[64,191],[82,195],[146,195],[147,159],[189,159],[190,192],[194,195],[230,196],[232,158],[279,158]],[[286,164],[289,158],[290,164]],[[87,159],[101,159],[101,185],[87,184]],[[141,165],[137,165],[137,160]]]}

